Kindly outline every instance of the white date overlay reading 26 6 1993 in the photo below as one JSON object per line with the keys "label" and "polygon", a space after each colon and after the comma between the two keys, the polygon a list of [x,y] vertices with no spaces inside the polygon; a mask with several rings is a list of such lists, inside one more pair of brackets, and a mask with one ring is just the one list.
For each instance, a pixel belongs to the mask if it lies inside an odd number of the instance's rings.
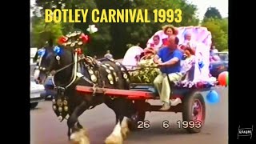
{"label": "white date overlay reading 26 6 1993", "polygon": [[[145,120],[145,121],[138,121],[138,129],[150,129],[150,121]],[[176,125],[178,129],[200,129],[202,127],[202,122],[201,121],[177,121]],[[162,128],[168,129],[170,128],[171,124],[168,120],[162,121]]]}

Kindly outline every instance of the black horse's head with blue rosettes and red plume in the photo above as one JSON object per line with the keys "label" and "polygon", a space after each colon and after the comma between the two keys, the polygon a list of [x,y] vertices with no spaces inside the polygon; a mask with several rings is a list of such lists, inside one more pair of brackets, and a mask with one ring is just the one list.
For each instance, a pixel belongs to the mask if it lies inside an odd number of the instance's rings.
{"label": "black horse's head with blue rosettes and red plume", "polygon": [[[88,36],[82,31],[74,31],[58,39],[60,46],[50,46],[39,50],[38,66],[34,72],[34,78],[42,83],[50,72],[54,72],[54,83],[63,86],[67,82],[73,82],[74,73],[77,70],[78,54],[81,48],[88,42]],[[57,83],[56,83],[56,82]]]}

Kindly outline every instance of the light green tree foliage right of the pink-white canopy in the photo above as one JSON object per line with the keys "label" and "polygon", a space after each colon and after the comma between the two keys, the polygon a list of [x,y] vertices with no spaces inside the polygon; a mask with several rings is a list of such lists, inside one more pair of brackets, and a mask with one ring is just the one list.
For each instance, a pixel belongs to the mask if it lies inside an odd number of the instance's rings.
{"label": "light green tree foliage right of the pink-white canopy", "polygon": [[213,45],[219,51],[228,49],[228,26],[226,19],[206,19],[202,22],[202,26],[205,26],[212,35]]}

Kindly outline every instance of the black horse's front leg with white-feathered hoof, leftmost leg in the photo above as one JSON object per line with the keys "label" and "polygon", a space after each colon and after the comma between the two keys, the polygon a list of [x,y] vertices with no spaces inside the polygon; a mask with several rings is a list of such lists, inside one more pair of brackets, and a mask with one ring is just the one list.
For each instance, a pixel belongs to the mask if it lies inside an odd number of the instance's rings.
{"label": "black horse's front leg with white-feathered hoof, leftmost leg", "polygon": [[69,131],[71,130],[70,140],[75,144],[89,144],[89,138],[86,130],[82,128],[82,125],[78,122],[78,117],[86,111],[90,105],[83,101],[80,105],[74,108],[73,113],[70,115],[70,118],[67,120],[67,125]]}

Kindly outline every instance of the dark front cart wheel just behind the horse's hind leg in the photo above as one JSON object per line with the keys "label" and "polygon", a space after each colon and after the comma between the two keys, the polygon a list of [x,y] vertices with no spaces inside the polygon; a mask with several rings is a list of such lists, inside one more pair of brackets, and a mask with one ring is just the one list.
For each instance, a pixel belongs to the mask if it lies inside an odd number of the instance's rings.
{"label": "dark front cart wheel just behind the horse's hind leg", "polygon": [[129,129],[134,131],[138,130],[138,122],[144,121],[146,112],[136,112],[136,114],[133,114],[131,116],[130,121],[128,122]]}

